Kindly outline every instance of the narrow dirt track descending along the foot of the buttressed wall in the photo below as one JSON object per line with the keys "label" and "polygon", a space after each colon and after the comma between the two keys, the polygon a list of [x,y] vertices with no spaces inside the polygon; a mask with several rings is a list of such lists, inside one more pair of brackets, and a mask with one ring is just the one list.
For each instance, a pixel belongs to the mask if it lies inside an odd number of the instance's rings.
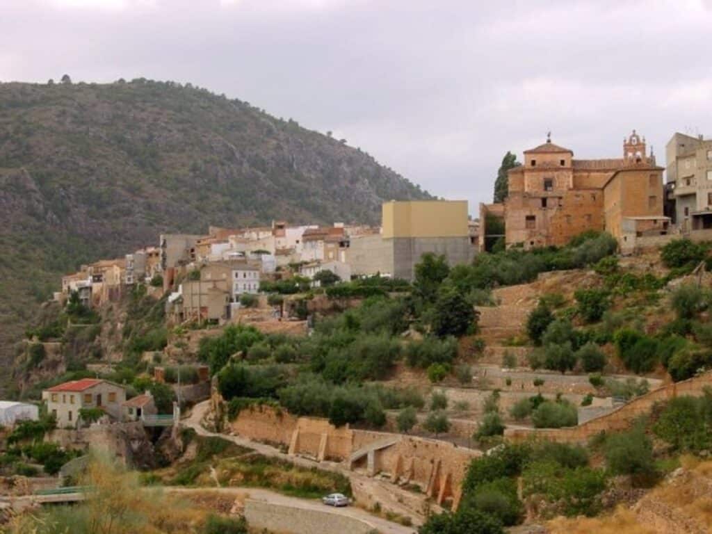
{"label": "narrow dirt track descending along the foot of the buttressed wall", "polygon": [[[289,456],[288,454],[283,453],[282,451],[276,449],[273,446],[259,443],[257,441],[251,441],[241,436],[231,436],[229,434],[216,434],[215,432],[211,432],[205,429],[204,426],[202,426],[201,424],[204,415],[209,412],[209,410],[209,400],[199,402],[193,407],[189,417],[182,420],[182,424],[184,426],[187,426],[188,428],[194,429],[194,431],[196,431],[199,436],[213,436],[226,439],[228,441],[232,441],[236,445],[244,446],[248,449],[253,449],[254,451],[257,451],[258,453],[263,454],[264,456],[288,461],[296,466],[305,468],[318,468],[323,469],[325,471],[341,473],[342,475],[350,478],[352,485],[357,484],[358,486],[360,486],[360,488],[365,488],[367,493],[370,493],[370,495],[374,496],[376,500],[381,503],[381,506],[384,510],[394,511],[396,513],[399,513],[399,515],[403,515],[404,517],[412,518],[413,523],[415,525],[420,525],[424,522],[425,518],[422,515],[414,514],[412,510],[403,506],[402,503],[399,501],[399,495],[401,495],[402,493],[404,494],[404,496],[409,496],[410,498],[412,498],[412,493],[407,493],[406,490],[399,488],[398,486],[395,486],[392,483],[377,481],[374,478],[370,478],[354,471],[349,471],[342,464],[337,464],[335,462],[330,461],[318,462],[303,458],[301,456]],[[436,506],[432,506],[431,509],[433,509],[434,511],[438,511],[438,507]],[[342,511],[345,510],[345,508],[338,508],[337,510]],[[360,510],[360,508],[350,507],[348,508],[348,512],[345,513],[352,513],[351,511],[354,510]],[[373,515],[370,515],[368,513],[366,514],[369,517],[375,518],[375,516]],[[385,521],[385,523],[392,525],[394,528],[405,529],[397,530],[397,532],[399,533],[414,532],[414,529],[405,528],[402,525],[398,525],[397,523],[391,523],[389,521]]]}

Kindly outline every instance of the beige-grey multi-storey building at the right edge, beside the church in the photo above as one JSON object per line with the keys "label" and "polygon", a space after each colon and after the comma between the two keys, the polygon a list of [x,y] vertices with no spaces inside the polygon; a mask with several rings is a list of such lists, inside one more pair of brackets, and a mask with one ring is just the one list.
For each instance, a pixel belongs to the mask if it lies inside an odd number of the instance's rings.
{"label": "beige-grey multi-storey building at the right edge, beside the church", "polygon": [[676,132],[665,158],[675,224],[682,231],[712,228],[712,139]]}

